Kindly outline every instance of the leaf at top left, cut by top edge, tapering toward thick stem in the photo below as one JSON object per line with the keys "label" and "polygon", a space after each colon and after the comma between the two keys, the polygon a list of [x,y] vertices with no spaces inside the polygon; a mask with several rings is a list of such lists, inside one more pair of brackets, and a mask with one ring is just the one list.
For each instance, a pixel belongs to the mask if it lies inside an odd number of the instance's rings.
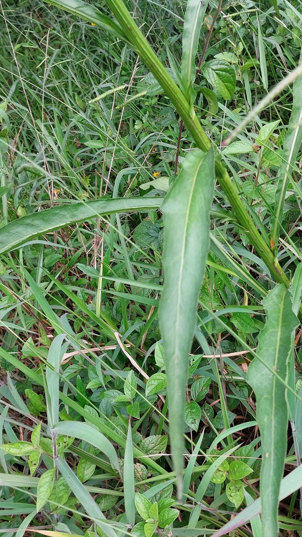
{"label": "leaf at top left, cut by top edge, tapering toward thick stem", "polygon": [[103,28],[106,32],[109,32],[120,39],[125,39],[122,29],[111,18],[103,15],[93,5],[86,4],[82,0],[47,0],[48,4],[56,6],[56,8],[65,9],[77,15],[89,23],[93,23],[95,26]]}

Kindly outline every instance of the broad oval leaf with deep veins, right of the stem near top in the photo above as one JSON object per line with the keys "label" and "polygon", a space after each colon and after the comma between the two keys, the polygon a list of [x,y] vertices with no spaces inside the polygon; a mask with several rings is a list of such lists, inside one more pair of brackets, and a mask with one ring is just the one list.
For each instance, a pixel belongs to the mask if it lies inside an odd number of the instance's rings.
{"label": "broad oval leaf with deep veins, right of the stem near top", "polygon": [[236,86],[235,70],[224,60],[210,60],[202,68],[202,74],[209,84],[226,99],[232,99]]}

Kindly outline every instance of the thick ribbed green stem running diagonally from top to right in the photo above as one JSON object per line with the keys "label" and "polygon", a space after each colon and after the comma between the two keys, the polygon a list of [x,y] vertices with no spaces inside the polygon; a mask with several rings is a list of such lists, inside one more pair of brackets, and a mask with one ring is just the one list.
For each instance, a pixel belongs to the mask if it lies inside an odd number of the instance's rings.
{"label": "thick ribbed green stem running diagonally from top to right", "polygon": [[[107,4],[114,14],[114,17],[120,24],[123,33],[127,35],[129,43],[136,50],[137,54],[139,54],[154,77],[156,77],[157,81],[164,89],[165,94],[171,99],[173,105],[183,120],[183,123],[186,125],[191,136],[193,137],[197,147],[203,151],[208,151],[211,146],[211,142],[198,121],[194,108],[190,107],[179,87],[175,84],[163,64],[153,52],[148,41],[146,41],[144,35],[139,30],[135,21],[132,19],[131,14],[127,10],[123,1],[107,0]],[[243,202],[238,195],[235,185],[232,183],[231,177],[227,173],[227,170],[220,159],[220,155],[217,155],[215,167],[217,180],[225,192],[233,212],[238,219],[238,222],[242,228],[244,228],[245,233],[249,237],[249,240],[253,244],[255,250],[267,265],[271,275],[274,276],[276,281],[285,284],[285,286],[288,287],[288,278],[286,277],[281,266],[276,261],[268,245],[261,237],[253,220],[249,216]]]}

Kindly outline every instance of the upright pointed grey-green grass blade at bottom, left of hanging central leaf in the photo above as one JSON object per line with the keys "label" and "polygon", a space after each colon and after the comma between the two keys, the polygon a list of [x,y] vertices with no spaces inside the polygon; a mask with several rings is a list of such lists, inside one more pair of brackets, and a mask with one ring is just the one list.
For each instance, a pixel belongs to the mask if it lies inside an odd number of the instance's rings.
{"label": "upright pointed grey-green grass blade at bottom, left of hanging central leaf", "polygon": [[134,503],[134,468],[133,468],[133,448],[131,436],[131,423],[129,419],[128,434],[126,440],[125,458],[124,458],[124,494],[125,494],[125,512],[127,523],[131,526],[135,524],[135,503]]}

